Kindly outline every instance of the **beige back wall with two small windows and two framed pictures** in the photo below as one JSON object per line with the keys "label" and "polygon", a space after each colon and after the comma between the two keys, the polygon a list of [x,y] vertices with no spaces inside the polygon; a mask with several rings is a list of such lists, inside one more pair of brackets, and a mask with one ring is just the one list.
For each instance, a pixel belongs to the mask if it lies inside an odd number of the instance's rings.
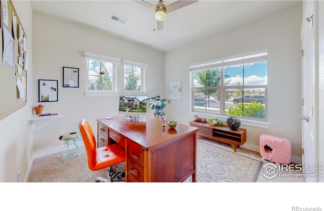
{"label": "beige back wall with two small windows and two framed pictures", "polygon": [[[101,30],[33,13],[34,75],[33,95],[37,103],[38,79],[58,80],[58,102],[43,103],[44,113],[61,111],[58,118],[34,132],[35,156],[59,151],[62,133],[72,130],[72,125],[87,118],[97,132],[96,118],[118,114],[118,98],[123,93],[123,59],[147,63],[146,94],[153,97],[163,92],[164,53],[130,43],[123,38]],[[118,94],[109,97],[85,97],[87,61],[84,52],[120,58],[117,65]],[[79,68],[79,88],[62,87],[62,67]],[[126,94],[126,93],[125,93]],[[41,123],[41,122],[37,122]],[[49,151],[50,150],[50,151]]]}

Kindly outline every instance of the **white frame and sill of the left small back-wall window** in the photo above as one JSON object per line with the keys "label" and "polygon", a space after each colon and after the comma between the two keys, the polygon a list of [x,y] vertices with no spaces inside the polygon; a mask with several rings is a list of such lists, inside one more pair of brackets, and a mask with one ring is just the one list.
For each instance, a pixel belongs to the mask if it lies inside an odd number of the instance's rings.
{"label": "white frame and sill of the left small back-wall window", "polygon": [[[100,97],[100,96],[116,96],[117,95],[117,64],[120,59],[115,57],[109,57],[105,55],[85,52],[85,58],[87,59],[87,80],[86,80],[86,92],[85,97]],[[112,90],[100,91],[100,90],[88,90],[88,79],[89,79],[89,59],[97,60],[102,62],[108,62],[113,64],[112,70]]]}

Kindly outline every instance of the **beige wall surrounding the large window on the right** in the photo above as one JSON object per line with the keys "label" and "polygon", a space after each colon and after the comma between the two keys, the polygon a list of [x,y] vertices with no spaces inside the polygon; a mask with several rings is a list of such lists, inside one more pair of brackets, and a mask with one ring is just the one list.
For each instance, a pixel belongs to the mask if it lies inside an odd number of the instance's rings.
{"label": "beige wall surrounding the large window on the right", "polygon": [[[182,100],[168,114],[181,123],[193,120],[189,113],[189,64],[268,49],[268,122],[270,129],[242,125],[247,129],[243,147],[259,151],[260,134],[275,134],[292,143],[295,161],[301,162],[301,48],[302,6],[236,27],[165,54],[165,87],[182,81]],[[165,89],[165,94],[168,89]],[[222,118],[226,120],[226,118]]]}

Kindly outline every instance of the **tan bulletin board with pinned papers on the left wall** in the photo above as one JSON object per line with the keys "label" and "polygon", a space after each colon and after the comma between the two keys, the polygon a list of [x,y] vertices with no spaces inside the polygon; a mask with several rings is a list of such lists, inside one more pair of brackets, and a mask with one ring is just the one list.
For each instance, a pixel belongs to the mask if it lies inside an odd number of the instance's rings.
{"label": "tan bulletin board with pinned papers on the left wall", "polygon": [[12,1],[1,1],[0,120],[27,104],[27,36]]}

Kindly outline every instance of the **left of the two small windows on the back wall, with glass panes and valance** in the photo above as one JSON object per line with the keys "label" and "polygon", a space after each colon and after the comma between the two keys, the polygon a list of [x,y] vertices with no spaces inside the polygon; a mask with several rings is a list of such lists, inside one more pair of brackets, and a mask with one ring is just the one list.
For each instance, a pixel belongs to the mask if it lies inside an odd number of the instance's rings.
{"label": "left of the two small windows on the back wall, with glass panes and valance", "polygon": [[115,92],[115,65],[119,59],[85,52],[87,59],[89,92]]}

